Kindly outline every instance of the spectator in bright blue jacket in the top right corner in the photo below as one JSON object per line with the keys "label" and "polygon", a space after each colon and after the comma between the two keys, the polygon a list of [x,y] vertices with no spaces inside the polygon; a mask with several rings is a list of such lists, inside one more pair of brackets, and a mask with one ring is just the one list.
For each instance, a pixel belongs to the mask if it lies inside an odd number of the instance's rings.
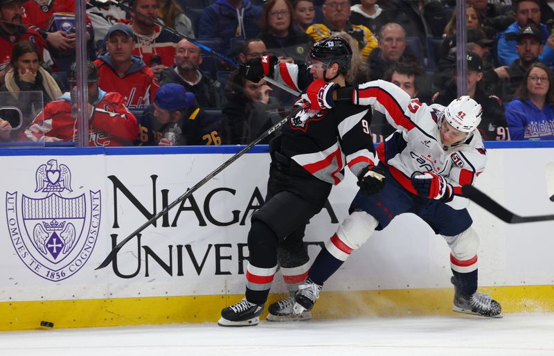
{"label": "spectator in bright blue jacket in the top right corner", "polygon": [[[544,64],[551,64],[554,60],[554,35],[545,24],[540,24],[541,11],[537,0],[517,0],[515,1],[515,18],[516,21],[511,24],[506,31],[501,33],[498,38],[497,55],[501,65],[509,66],[517,60],[517,34],[528,25],[535,24],[542,32],[543,47],[542,53],[539,55],[539,61]],[[546,43],[544,43],[546,39]]]}

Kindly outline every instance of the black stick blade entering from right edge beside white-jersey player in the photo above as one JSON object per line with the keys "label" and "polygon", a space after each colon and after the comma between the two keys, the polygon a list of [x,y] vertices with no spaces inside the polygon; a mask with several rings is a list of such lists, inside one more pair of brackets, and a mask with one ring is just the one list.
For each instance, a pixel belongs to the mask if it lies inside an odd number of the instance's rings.
{"label": "black stick blade entering from right edge beside white-jersey player", "polygon": [[470,184],[462,186],[462,193],[467,199],[475,202],[477,205],[481,206],[481,208],[484,208],[486,211],[508,224],[554,220],[554,215],[519,216],[509,211],[507,208],[504,208],[491,197]]}

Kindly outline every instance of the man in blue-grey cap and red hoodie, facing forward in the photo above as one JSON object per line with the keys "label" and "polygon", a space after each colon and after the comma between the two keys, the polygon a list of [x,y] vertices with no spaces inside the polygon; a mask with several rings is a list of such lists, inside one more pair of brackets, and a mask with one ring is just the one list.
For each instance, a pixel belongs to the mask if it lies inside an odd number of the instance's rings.
{"label": "man in blue-grey cap and red hoodie, facing forward", "polygon": [[107,53],[94,61],[98,66],[100,88],[123,95],[128,109],[148,107],[159,85],[145,62],[132,55],[134,34],[131,26],[121,22],[111,26],[106,36],[106,48]]}

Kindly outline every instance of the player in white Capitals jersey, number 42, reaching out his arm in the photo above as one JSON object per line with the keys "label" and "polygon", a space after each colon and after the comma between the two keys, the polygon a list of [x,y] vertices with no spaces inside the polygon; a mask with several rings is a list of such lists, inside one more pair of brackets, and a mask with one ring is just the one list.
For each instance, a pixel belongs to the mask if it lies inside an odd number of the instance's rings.
{"label": "player in white Capitals jersey, number 42, reaching out his arm", "polygon": [[[310,88],[308,92],[317,91]],[[490,294],[477,291],[479,237],[471,227],[472,218],[465,208],[468,200],[461,192],[461,186],[474,184],[485,169],[486,152],[476,130],[481,105],[469,96],[461,96],[447,107],[422,104],[383,80],[361,84],[346,95],[352,95],[355,104],[373,106],[397,129],[377,147],[378,167],[384,169],[386,184],[373,195],[357,193],[350,215],[298,287],[294,312],[312,309],[323,283],[373,231],[384,229],[396,215],[415,213],[443,235],[451,249],[452,309],[501,317],[500,304]],[[316,96],[308,99],[317,100]],[[324,104],[334,106],[332,100]]]}

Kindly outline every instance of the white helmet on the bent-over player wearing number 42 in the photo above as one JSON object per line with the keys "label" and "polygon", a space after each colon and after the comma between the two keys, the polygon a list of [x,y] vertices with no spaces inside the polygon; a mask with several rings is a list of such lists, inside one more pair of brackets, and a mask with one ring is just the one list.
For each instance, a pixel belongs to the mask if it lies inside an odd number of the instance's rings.
{"label": "white helmet on the bent-over player wearing number 42", "polygon": [[481,105],[465,95],[452,100],[441,116],[456,130],[470,134],[481,123],[482,114]]}

